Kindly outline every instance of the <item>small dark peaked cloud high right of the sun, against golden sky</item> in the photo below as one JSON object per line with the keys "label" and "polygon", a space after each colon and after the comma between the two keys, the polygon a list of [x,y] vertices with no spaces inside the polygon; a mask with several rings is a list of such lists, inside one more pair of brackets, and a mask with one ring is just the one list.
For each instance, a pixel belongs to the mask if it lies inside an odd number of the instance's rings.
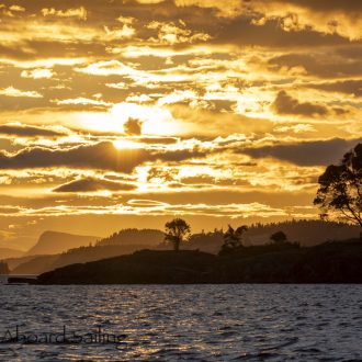
{"label": "small dark peaked cloud high right of the sun, against golden sky", "polygon": [[298,100],[289,95],[285,91],[280,91],[272,103],[272,108],[279,114],[297,114],[303,116],[326,115],[328,109],[325,105],[299,102]]}

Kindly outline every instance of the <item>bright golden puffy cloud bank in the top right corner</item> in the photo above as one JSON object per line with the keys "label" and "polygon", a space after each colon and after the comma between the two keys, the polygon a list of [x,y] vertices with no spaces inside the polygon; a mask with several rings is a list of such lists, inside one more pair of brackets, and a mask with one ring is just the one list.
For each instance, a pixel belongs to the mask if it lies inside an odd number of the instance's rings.
{"label": "bright golden puffy cloud bank in the top right corner", "polygon": [[284,32],[313,30],[320,35],[338,34],[349,39],[360,39],[362,11],[355,0],[231,0],[227,3],[217,0],[176,0],[184,5],[214,8],[216,15],[225,18],[247,16],[254,24],[263,26],[275,21]]}

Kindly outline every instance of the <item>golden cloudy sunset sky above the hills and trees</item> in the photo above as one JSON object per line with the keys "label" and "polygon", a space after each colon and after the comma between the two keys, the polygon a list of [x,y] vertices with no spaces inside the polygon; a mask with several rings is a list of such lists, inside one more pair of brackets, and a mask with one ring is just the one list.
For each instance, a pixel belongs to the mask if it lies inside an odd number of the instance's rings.
{"label": "golden cloudy sunset sky above the hills and trees", "polygon": [[362,139],[360,0],[0,0],[0,247],[317,218]]}

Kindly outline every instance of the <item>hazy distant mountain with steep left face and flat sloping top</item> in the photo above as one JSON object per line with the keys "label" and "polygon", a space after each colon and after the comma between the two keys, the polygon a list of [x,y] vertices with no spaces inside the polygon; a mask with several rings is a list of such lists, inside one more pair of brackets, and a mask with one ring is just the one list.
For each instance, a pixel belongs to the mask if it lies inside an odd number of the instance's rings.
{"label": "hazy distant mountain with steep left face and flat sloping top", "polygon": [[98,239],[95,236],[45,231],[41,235],[36,245],[26,252],[26,256],[56,254],[72,248],[89,246]]}

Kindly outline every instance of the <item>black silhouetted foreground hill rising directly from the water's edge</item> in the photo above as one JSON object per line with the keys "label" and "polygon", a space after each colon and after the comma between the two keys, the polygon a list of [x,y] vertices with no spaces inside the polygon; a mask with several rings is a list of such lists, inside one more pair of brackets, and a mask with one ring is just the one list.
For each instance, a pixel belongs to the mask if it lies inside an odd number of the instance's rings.
{"label": "black silhouetted foreground hill rising directly from the water's edge", "polygon": [[44,273],[38,284],[362,283],[362,242],[251,246],[216,257],[142,250]]}

